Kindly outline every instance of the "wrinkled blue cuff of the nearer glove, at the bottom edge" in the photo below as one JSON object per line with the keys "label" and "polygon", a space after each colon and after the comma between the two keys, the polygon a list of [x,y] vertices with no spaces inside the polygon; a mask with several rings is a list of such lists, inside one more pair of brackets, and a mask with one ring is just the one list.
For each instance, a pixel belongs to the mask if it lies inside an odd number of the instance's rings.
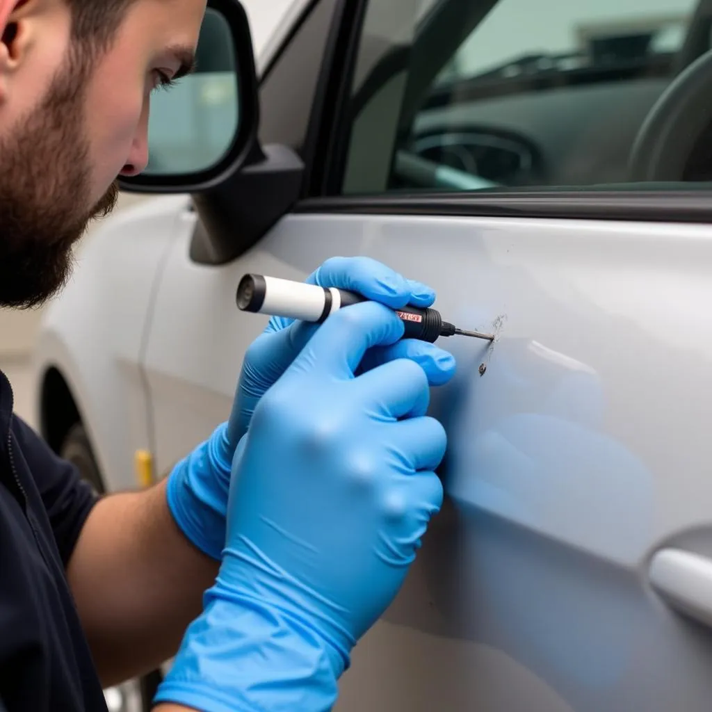
{"label": "wrinkled blue cuff of the nearer glove, at the bottom edge", "polygon": [[219,583],[206,592],[155,703],[204,712],[333,708],[341,654],[282,611],[223,595]]}

